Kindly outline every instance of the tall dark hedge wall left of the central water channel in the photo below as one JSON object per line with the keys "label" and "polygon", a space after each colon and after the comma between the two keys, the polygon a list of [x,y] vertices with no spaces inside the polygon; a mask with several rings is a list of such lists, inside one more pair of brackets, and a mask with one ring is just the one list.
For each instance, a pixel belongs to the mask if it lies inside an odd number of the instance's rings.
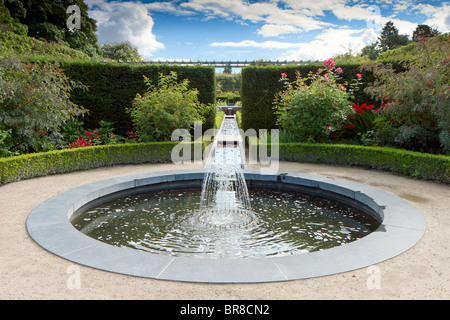
{"label": "tall dark hedge wall left of the central water channel", "polygon": [[[175,71],[180,80],[189,79],[191,88],[199,91],[201,103],[215,103],[215,71],[212,67],[99,62],[62,62],[61,65],[70,79],[89,88],[72,93],[72,101],[89,110],[83,119],[86,128],[97,128],[100,120],[106,120],[114,123],[119,134],[132,131],[131,118],[125,110],[131,107],[137,93],[145,93],[144,75],[156,83],[159,73]],[[204,127],[214,126],[213,117],[210,122]]]}

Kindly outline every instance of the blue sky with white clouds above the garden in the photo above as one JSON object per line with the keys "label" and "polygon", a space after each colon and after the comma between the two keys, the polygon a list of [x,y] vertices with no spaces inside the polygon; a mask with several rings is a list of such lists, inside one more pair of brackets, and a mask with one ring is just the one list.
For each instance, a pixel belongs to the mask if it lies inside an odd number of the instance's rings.
{"label": "blue sky with white clouds above the garden", "polygon": [[374,43],[391,20],[450,31],[440,0],[85,0],[100,42],[129,41],[149,60],[324,60]]}

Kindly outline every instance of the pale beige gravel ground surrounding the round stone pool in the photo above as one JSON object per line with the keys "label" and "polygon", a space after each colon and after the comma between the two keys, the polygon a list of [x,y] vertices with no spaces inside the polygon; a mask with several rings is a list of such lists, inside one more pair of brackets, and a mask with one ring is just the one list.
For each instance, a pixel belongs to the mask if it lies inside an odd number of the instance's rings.
{"label": "pale beige gravel ground surrounding the round stone pool", "polygon": [[[411,203],[426,220],[424,237],[410,250],[375,267],[332,276],[258,284],[145,279],[74,265],[41,248],[27,233],[25,222],[30,212],[60,192],[118,176],[188,168],[200,166],[118,166],[31,179],[0,187],[0,299],[450,298],[450,187],[378,171],[280,163],[280,171],[317,174],[377,187]],[[80,275],[80,282],[75,287],[73,270],[79,271]],[[374,271],[379,276],[379,282],[372,282]]]}

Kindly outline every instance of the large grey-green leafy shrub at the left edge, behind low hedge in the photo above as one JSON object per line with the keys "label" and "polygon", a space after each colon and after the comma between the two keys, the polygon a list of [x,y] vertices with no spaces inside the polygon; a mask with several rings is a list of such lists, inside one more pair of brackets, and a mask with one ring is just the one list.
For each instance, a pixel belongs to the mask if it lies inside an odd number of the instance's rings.
{"label": "large grey-green leafy shrub at the left edge, behind low hedge", "polygon": [[51,137],[67,120],[85,112],[70,100],[70,91],[82,86],[70,81],[56,64],[0,60],[0,130],[12,152],[51,149]]}

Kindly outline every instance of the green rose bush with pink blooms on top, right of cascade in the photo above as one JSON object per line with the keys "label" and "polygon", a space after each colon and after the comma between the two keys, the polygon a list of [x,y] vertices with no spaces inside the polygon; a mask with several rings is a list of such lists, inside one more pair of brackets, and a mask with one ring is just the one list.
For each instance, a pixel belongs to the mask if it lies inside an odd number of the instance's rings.
{"label": "green rose bush with pink blooms on top, right of cascade", "polygon": [[[297,74],[293,85],[286,74],[281,74],[280,81],[284,82],[285,90],[275,99],[278,124],[299,141],[327,142],[352,112],[350,99],[358,80],[347,90],[337,83],[342,69],[335,69],[333,59],[325,60],[324,67],[307,78]],[[309,86],[307,82],[310,82]]]}

